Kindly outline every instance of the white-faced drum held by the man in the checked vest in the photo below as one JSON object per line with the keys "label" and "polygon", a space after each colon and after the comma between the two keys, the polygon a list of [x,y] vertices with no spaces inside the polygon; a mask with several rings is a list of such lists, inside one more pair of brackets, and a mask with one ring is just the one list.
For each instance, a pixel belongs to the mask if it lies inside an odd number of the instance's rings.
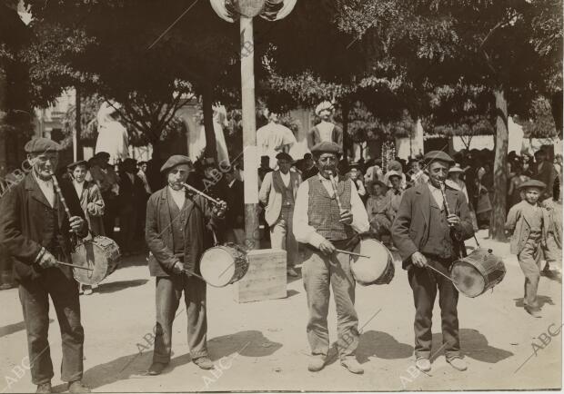
{"label": "white-faced drum held by the man in the checked vest", "polygon": [[364,239],[358,242],[355,252],[369,256],[351,256],[351,270],[355,280],[363,285],[388,284],[394,278],[394,259],[392,253],[380,241]]}

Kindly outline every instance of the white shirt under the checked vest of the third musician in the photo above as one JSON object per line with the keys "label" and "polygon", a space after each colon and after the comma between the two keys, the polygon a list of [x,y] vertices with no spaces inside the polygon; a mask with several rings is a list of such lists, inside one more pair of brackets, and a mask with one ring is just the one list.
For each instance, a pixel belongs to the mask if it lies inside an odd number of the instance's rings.
{"label": "white shirt under the checked vest of the third musician", "polygon": [[[333,197],[335,192],[333,192],[333,186],[331,181],[323,178],[321,175],[317,174],[317,178],[321,180],[321,184],[329,193],[329,196]],[[368,213],[364,204],[358,197],[357,188],[350,182],[350,212],[353,214],[353,221],[350,226],[354,231],[366,232],[370,229],[370,223],[368,222]],[[318,234],[313,226],[309,225],[309,217],[307,216],[307,209],[309,205],[309,182],[302,182],[297,189],[296,204],[294,205],[294,236],[296,240],[303,243],[309,243],[312,246],[319,248],[319,244],[325,240],[325,238]]]}

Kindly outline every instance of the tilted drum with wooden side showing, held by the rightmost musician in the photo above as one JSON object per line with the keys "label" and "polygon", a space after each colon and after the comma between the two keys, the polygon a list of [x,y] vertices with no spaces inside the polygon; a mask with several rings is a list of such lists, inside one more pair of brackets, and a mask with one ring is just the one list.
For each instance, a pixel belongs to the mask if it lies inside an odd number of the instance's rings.
{"label": "tilted drum with wooden side showing, held by the rightmost musician", "polygon": [[478,248],[467,257],[454,261],[450,269],[450,278],[458,291],[474,298],[492,289],[505,276],[505,265],[489,249]]}

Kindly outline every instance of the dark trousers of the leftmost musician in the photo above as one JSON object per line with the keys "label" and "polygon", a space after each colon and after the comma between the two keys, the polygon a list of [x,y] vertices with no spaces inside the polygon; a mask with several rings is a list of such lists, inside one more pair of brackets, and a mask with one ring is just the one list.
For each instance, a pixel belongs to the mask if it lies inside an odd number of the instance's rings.
{"label": "dark trousers of the leftmost musician", "polygon": [[46,269],[33,281],[19,285],[19,296],[24,310],[25,330],[32,382],[36,385],[53,378],[53,363],[47,335],[49,331],[49,299],[55,305],[56,317],[61,330],[63,362],[61,379],[82,379],[83,344],[85,332],[80,324],[78,284],[58,267]]}

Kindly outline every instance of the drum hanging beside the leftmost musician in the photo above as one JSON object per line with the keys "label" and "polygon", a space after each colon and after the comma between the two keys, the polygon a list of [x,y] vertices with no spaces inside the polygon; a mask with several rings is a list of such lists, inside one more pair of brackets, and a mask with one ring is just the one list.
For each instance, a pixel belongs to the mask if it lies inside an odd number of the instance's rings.
{"label": "drum hanging beside the leftmost musician", "polygon": [[73,264],[88,267],[94,271],[73,269],[75,280],[82,284],[98,284],[116,271],[121,258],[116,241],[97,235],[92,240],[83,240],[71,253]]}

